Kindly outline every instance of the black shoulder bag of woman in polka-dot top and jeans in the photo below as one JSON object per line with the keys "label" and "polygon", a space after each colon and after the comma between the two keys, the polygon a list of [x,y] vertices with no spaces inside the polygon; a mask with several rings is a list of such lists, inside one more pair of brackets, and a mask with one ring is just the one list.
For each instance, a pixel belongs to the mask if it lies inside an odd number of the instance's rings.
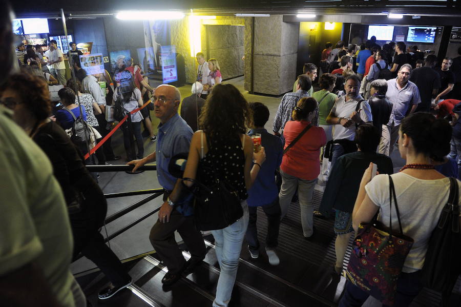
{"label": "black shoulder bag of woman in polka-dot top and jeans", "polygon": [[[203,158],[203,131],[201,144],[200,158]],[[209,173],[212,174],[213,183],[211,185],[205,186],[197,179],[182,178],[183,181],[194,183],[191,190],[195,196],[194,222],[197,230],[202,231],[226,228],[243,216],[237,190],[225,177],[218,175],[214,162],[207,167]]]}

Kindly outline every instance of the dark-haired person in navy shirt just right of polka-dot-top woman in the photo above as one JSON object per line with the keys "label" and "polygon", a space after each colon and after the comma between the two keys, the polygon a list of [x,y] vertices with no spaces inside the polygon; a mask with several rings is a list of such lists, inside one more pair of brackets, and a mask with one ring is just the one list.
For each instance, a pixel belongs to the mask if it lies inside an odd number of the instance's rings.
{"label": "dark-haired person in navy shirt just right of polka-dot-top woman", "polygon": [[261,145],[266,150],[266,160],[261,166],[261,170],[252,188],[248,191],[249,221],[246,230],[246,240],[248,241],[250,255],[252,258],[258,258],[259,241],[256,229],[256,211],[258,207],[262,207],[268,222],[266,253],[269,263],[277,265],[280,263],[280,260],[275,249],[278,245],[281,210],[278,188],[275,182],[275,170],[279,168],[282,162],[283,146],[279,137],[268,133],[264,129],[264,125],[269,119],[269,109],[261,103],[252,103],[249,107],[253,110],[253,129],[248,134],[261,134]]}

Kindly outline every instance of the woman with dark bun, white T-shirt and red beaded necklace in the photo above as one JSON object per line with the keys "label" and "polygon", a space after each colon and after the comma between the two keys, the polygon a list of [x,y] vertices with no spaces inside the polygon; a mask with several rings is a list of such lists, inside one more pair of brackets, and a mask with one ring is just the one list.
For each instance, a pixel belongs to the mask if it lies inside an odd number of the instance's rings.
{"label": "woman with dark bun, white T-shirt and red beaded necklace", "polygon": [[[399,151],[406,165],[391,175],[399,206],[403,233],[414,239],[397,280],[394,306],[409,306],[420,292],[420,273],[428,242],[442,209],[448,201],[450,179],[434,169],[433,161],[441,161],[450,152],[451,126],[429,113],[414,113],[402,120],[399,130]],[[365,171],[352,212],[352,225],[370,222],[380,210],[378,220],[389,221],[388,175],[371,180],[372,165]],[[458,187],[461,182],[458,182]],[[461,187],[460,187],[461,189]],[[394,206],[392,206],[394,207]],[[392,210],[392,228],[397,229],[397,216]],[[339,306],[362,306],[368,294],[348,282]]]}

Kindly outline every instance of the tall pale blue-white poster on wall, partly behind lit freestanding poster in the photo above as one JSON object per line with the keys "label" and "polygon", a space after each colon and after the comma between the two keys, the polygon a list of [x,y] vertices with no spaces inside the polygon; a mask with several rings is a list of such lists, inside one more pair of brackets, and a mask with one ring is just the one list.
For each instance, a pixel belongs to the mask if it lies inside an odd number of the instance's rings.
{"label": "tall pale blue-white poster on wall, partly behind lit freestanding poster", "polygon": [[[152,62],[154,71],[162,73],[161,47],[171,45],[171,26],[169,21],[144,21],[144,43],[145,48],[152,48]],[[139,58],[142,62],[144,57]],[[144,70],[144,73],[146,71]]]}

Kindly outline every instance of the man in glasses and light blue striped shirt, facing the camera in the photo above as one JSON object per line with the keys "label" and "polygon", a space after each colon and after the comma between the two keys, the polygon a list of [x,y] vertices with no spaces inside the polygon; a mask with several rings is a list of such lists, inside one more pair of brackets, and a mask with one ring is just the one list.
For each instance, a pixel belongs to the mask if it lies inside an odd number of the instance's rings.
{"label": "man in glasses and light blue striped shirt, facing the camera", "polygon": [[[411,65],[404,64],[397,73],[397,77],[387,81],[386,98],[392,104],[392,112],[387,123],[390,139],[383,141],[389,146],[389,155],[399,138],[400,122],[405,116],[413,113],[417,105],[421,103],[420,91],[414,83],[409,81],[411,71]],[[387,147],[385,153],[387,153]]]}

